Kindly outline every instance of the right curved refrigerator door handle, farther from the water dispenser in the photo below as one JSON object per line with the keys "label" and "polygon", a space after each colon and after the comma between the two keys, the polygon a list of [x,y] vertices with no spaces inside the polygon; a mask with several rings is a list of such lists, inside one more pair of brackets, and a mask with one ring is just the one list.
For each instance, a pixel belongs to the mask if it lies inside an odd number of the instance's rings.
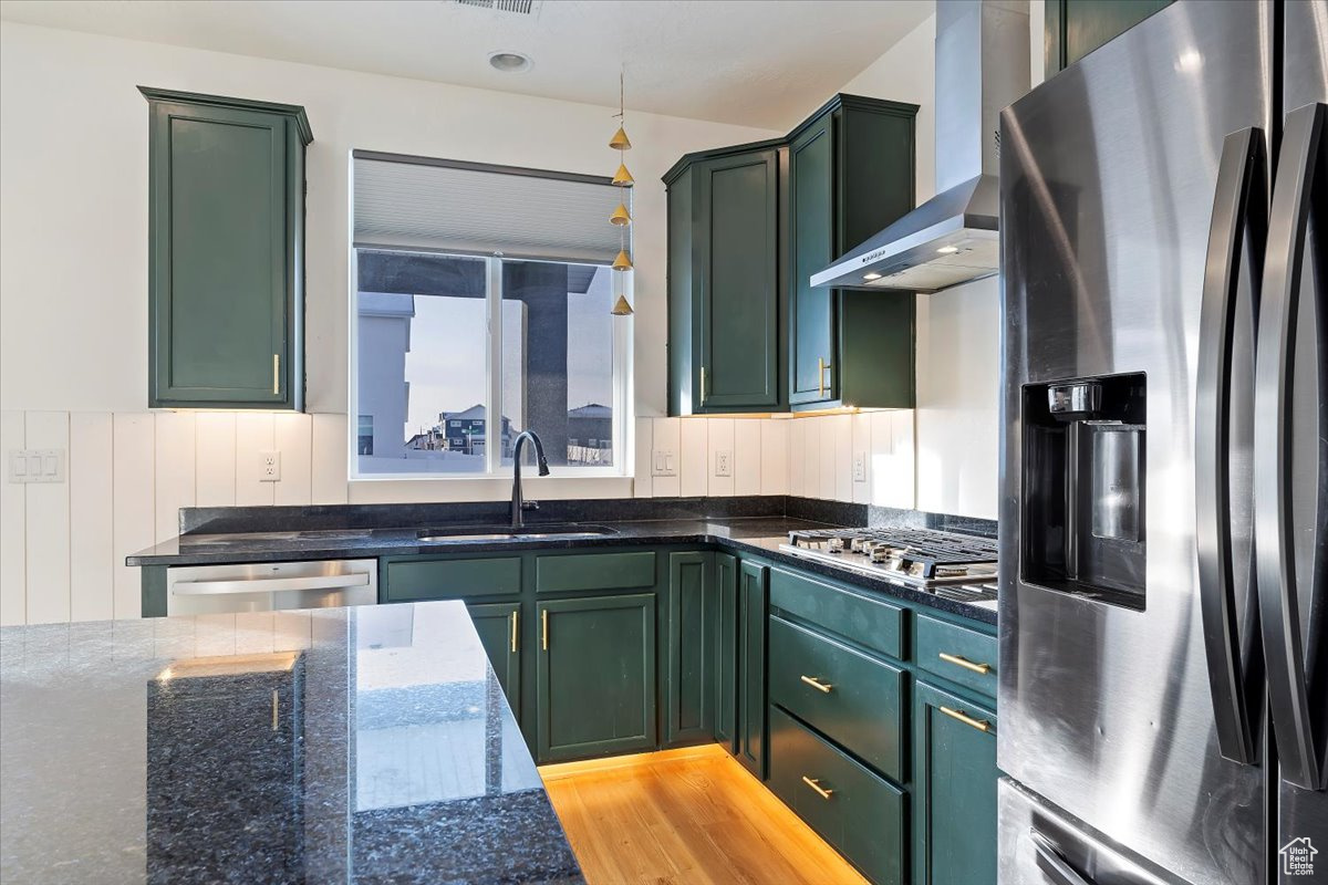
{"label": "right curved refrigerator door handle, farther from the water dispenser", "polygon": [[[1313,617],[1313,612],[1300,610],[1297,580],[1313,580],[1315,576],[1296,575],[1289,421],[1305,241],[1315,192],[1328,188],[1324,178],[1328,176],[1325,121],[1328,105],[1305,105],[1287,114],[1272,195],[1268,263],[1255,349],[1255,561],[1268,667],[1268,702],[1282,776],[1305,789],[1323,788],[1328,713],[1321,709],[1323,695],[1315,693],[1328,686],[1311,686],[1307,678],[1311,669],[1307,667],[1305,649],[1315,647],[1317,637],[1308,637],[1308,646],[1304,642],[1301,617]],[[1320,230],[1319,235],[1323,234]],[[1324,281],[1317,280],[1317,285],[1323,287]],[[1328,305],[1319,305],[1320,326],[1324,325],[1325,308]],[[1316,333],[1315,329],[1299,332]],[[1317,333],[1321,345],[1323,329]],[[1320,524],[1324,520],[1323,490],[1315,517]],[[1323,544],[1321,536],[1317,543]],[[1316,703],[1312,703],[1313,698],[1317,698]]]}

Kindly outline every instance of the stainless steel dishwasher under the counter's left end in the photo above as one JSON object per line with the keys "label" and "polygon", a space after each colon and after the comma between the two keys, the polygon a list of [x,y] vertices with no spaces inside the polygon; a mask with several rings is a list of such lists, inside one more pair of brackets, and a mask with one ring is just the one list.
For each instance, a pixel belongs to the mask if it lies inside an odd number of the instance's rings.
{"label": "stainless steel dishwasher under the counter's left end", "polygon": [[373,605],[377,560],[189,565],[166,571],[166,614]]}

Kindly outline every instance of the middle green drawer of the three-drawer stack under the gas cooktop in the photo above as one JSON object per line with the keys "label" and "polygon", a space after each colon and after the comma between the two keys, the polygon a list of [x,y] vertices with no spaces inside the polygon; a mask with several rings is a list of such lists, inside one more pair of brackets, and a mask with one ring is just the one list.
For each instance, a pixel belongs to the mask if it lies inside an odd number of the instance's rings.
{"label": "middle green drawer of the three-drawer stack under the gas cooktop", "polygon": [[770,702],[903,780],[904,671],[780,617],[769,642]]}

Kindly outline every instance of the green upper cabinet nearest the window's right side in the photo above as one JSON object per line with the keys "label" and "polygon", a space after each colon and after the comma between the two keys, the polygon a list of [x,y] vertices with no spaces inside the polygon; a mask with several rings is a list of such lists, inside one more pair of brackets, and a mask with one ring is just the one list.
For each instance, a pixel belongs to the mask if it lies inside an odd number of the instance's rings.
{"label": "green upper cabinet nearest the window's right side", "polygon": [[669,399],[675,414],[785,403],[782,147],[675,166],[669,183]]}

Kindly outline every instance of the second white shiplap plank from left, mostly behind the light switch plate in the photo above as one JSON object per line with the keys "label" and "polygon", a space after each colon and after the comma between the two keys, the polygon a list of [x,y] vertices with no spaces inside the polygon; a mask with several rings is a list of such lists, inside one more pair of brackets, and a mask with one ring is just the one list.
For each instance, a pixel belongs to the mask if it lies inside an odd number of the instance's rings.
{"label": "second white shiplap plank from left, mostly behind the light switch plate", "polygon": [[65,452],[65,482],[29,483],[25,532],[28,540],[28,624],[69,620],[69,413],[29,411],[27,448]]}

